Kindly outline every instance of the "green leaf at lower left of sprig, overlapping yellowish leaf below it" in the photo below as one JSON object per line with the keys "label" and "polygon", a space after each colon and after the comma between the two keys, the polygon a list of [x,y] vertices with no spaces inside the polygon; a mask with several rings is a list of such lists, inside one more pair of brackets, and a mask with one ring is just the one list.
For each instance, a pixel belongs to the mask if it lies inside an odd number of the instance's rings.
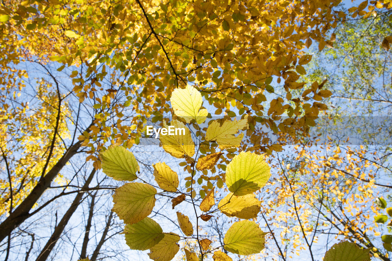
{"label": "green leaf at lower left of sprig, overlapping yellowish leaf below it", "polygon": [[147,250],[163,238],[161,226],[146,217],[135,224],[126,224],[123,234],[127,245],[134,250]]}

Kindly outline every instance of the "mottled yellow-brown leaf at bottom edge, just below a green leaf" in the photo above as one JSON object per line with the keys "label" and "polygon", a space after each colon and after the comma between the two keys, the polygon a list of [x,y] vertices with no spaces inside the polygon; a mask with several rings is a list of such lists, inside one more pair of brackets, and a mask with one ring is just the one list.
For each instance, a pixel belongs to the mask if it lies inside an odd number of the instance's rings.
{"label": "mottled yellow-brown leaf at bottom edge, just below a green leaf", "polygon": [[180,236],[174,233],[163,233],[163,238],[158,244],[150,248],[148,254],[152,260],[156,261],[170,261],[180,250],[180,246],[177,242],[180,240]]}

